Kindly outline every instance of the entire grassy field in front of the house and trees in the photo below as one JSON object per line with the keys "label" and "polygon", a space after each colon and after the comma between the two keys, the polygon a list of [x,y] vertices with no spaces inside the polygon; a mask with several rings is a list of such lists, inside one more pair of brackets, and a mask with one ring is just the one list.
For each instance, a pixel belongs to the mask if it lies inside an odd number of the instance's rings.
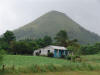
{"label": "entire grassy field in front of the house and trees", "polygon": [[82,56],[82,59],[83,62],[79,63],[39,56],[6,55],[3,64],[6,65],[5,75],[98,75],[100,55]]}

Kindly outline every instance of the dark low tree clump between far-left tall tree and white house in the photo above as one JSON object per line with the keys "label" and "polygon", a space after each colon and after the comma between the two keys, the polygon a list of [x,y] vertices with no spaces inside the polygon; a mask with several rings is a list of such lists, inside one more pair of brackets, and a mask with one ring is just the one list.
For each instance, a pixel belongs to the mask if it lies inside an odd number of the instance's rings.
{"label": "dark low tree clump between far-left tall tree and white house", "polygon": [[34,45],[30,44],[29,42],[25,41],[17,41],[13,42],[12,44],[12,53],[13,54],[32,54]]}

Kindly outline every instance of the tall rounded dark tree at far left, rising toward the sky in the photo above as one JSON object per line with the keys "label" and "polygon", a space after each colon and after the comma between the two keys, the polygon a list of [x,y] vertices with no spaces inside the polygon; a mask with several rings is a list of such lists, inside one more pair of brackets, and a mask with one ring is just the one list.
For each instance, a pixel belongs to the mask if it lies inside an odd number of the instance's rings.
{"label": "tall rounded dark tree at far left, rising toward the sky", "polygon": [[10,44],[11,41],[16,40],[14,33],[11,31],[7,31],[6,33],[4,33],[3,38],[8,44]]}

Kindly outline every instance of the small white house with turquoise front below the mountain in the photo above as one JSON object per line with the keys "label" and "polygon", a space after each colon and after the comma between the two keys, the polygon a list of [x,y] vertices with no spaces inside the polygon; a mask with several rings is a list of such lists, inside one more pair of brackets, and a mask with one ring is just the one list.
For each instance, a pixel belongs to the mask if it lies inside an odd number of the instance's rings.
{"label": "small white house with turquoise front below the mountain", "polygon": [[35,50],[33,55],[36,56],[37,53],[45,56],[47,56],[48,53],[53,53],[54,57],[61,57],[62,55],[67,56],[69,54],[69,51],[65,47],[50,45],[45,48],[40,48],[38,50]]}

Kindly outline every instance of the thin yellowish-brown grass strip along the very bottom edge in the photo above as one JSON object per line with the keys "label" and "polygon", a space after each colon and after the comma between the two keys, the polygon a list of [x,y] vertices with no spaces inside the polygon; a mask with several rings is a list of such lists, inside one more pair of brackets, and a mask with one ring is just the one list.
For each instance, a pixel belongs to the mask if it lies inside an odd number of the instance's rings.
{"label": "thin yellowish-brown grass strip along the very bottom edge", "polygon": [[[11,75],[11,74],[4,74],[4,75]],[[13,74],[13,75],[100,75],[100,72],[96,71],[77,71],[77,72],[49,72],[49,73],[30,73],[30,74]]]}

